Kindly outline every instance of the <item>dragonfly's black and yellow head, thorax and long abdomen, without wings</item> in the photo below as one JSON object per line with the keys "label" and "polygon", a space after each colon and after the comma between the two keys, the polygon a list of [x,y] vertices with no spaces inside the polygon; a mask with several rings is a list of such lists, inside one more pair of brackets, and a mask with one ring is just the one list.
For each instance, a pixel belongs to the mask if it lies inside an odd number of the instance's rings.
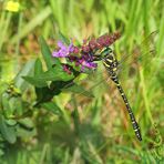
{"label": "dragonfly's black and yellow head, thorax and long abdomen, without wings", "polygon": [[119,65],[119,62],[117,62],[117,59],[116,59],[116,55],[113,53],[112,49],[110,48],[106,48],[102,53],[101,53],[101,57],[102,57],[102,62],[110,75],[110,79],[116,84],[120,93],[121,93],[121,96],[125,103],[125,106],[126,106],[126,110],[129,112],[129,115],[130,115],[130,119],[131,119],[131,122],[132,122],[132,125],[133,125],[133,130],[135,132],[135,135],[136,137],[142,141],[142,136],[141,136],[141,132],[140,132],[140,126],[135,120],[135,116],[132,112],[132,109],[131,109],[131,105],[127,101],[127,98],[120,84],[120,81],[119,81],[119,78],[117,78],[117,65]]}

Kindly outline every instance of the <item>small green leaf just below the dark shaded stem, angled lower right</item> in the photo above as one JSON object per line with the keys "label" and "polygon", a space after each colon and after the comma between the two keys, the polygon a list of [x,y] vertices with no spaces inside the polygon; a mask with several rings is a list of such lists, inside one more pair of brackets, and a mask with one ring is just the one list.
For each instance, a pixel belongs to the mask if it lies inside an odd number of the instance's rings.
{"label": "small green leaf just below the dark shaded stem, angled lower right", "polygon": [[53,102],[43,103],[42,107],[44,107],[48,111],[53,112],[57,115],[61,115],[62,114],[61,109],[55,103],[53,103]]}

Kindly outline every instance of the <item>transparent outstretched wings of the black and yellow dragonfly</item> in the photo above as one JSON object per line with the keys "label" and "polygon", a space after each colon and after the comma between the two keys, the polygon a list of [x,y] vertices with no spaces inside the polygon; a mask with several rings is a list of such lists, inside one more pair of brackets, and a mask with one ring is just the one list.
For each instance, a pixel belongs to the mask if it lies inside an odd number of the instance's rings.
{"label": "transparent outstretched wings of the black and yellow dragonfly", "polygon": [[[132,74],[135,74],[135,69],[137,69],[137,63],[140,61],[146,61],[146,63],[144,64],[144,68],[146,68],[147,65],[150,65],[147,61],[153,60],[154,54],[155,54],[155,43],[154,43],[154,39],[157,34],[157,31],[152,32],[150,35],[147,35],[144,41],[142,41],[142,43],[140,45],[136,45],[133,49],[133,53],[132,54],[125,54],[123,55],[123,58],[120,61],[119,64],[119,74],[122,74],[124,76],[126,71],[133,72]],[[150,59],[150,60],[148,60]],[[106,71],[104,71],[104,68],[102,65],[102,63],[100,62],[99,69],[98,71],[91,71],[91,73],[88,75],[88,78],[85,78],[84,80],[80,80],[78,81],[78,84],[81,85],[83,89],[85,89],[85,91],[83,90],[82,92],[80,92],[80,90],[76,92],[76,95],[74,96],[75,99],[79,99],[81,95],[85,95],[88,98],[93,98],[91,95],[94,95],[94,93],[92,94],[92,92],[95,92],[95,94],[98,94],[96,90],[101,91],[103,89],[103,86],[107,86],[110,88],[110,84],[105,83],[107,81],[107,74],[105,73]],[[130,75],[130,74],[129,74]],[[121,80],[122,81],[122,80]],[[69,85],[73,85],[74,82],[70,83]],[[69,85],[66,88],[69,88]],[[98,88],[98,89],[95,89]],[[109,89],[105,89],[106,91],[111,92]],[[69,90],[68,90],[69,91]],[[89,94],[91,93],[91,94]],[[100,95],[100,93],[99,93]],[[96,96],[96,95],[94,95]]]}

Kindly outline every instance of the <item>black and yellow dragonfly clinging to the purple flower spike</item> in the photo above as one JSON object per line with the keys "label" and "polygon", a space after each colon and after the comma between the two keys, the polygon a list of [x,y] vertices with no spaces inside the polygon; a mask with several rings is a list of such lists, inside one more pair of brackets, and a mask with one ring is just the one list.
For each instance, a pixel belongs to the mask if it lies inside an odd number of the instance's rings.
{"label": "black and yellow dragonfly clinging to the purple flower spike", "polygon": [[[156,35],[157,31],[152,32],[143,42],[146,42],[147,40],[150,40],[152,37]],[[142,43],[143,44],[143,43]],[[154,53],[154,49],[148,50],[147,53]],[[114,82],[114,84],[116,85],[122,100],[124,102],[124,105],[126,107],[126,111],[130,115],[130,120],[131,120],[131,124],[133,126],[135,136],[139,141],[142,141],[142,134],[141,134],[141,129],[140,125],[135,119],[135,115],[133,113],[133,110],[131,107],[131,104],[127,100],[127,96],[122,88],[122,84],[120,82],[120,78],[119,78],[119,73],[122,66],[122,63],[129,60],[129,55],[123,57],[122,60],[117,60],[116,54],[113,52],[113,50],[109,47],[109,48],[104,48],[103,50],[101,50],[101,52],[95,53],[94,54],[95,61],[102,61],[109,79],[111,79],[112,82]],[[98,84],[95,84],[95,86],[98,86],[100,83],[102,83],[104,80],[102,80],[101,82],[99,82]],[[93,89],[93,88],[92,88]],[[83,93],[82,93],[83,94]]]}

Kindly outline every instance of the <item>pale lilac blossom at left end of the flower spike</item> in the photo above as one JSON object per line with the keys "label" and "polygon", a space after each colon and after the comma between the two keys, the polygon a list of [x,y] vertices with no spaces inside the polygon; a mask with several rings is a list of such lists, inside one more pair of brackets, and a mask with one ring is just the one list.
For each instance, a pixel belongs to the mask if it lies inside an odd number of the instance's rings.
{"label": "pale lilac blossom at left end of the flower spike", "polygon": [[62,43],[62,41],[58,41],[58,47],[60,48],[59,51],[54,51],[52,53],[52,57],[55,58],[65,58],[69,55],[69,53],[72,53],[74,51],[73,43],[71,42],[69,47]]}

